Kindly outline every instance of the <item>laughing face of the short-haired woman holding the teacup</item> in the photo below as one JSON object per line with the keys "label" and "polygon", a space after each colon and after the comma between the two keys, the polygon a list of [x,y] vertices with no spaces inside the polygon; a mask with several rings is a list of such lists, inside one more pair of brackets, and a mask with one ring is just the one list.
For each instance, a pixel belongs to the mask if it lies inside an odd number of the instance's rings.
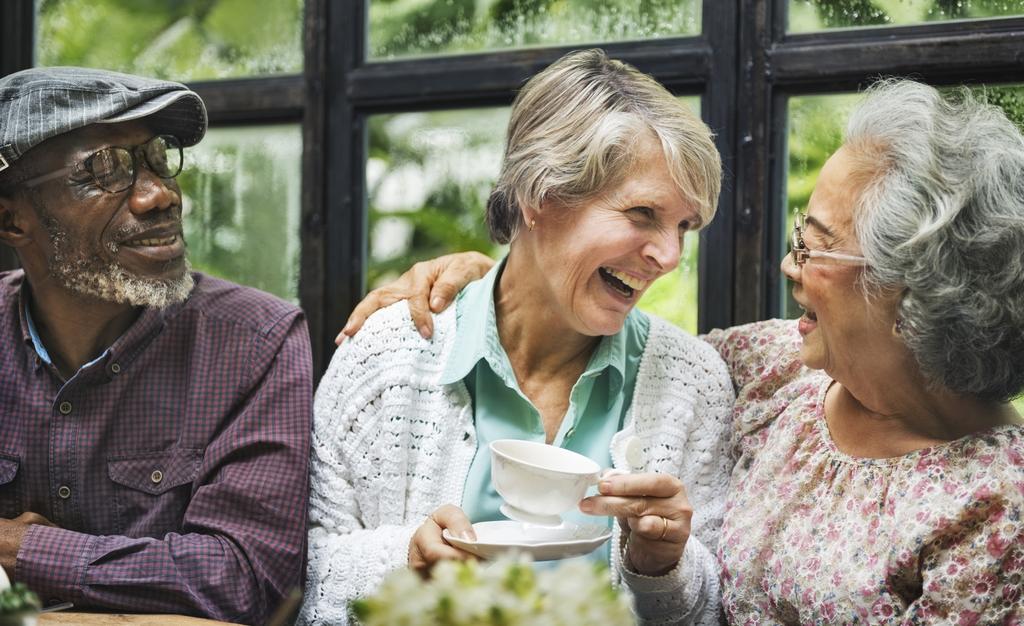
{"label": "laughing face of the short-haired woman holding the teacup", "polygon": [[548,301],[584,335],[618,332],[650,284],[679,263],[683,235],[699,225],[657,139],[639,139],[637,151],[622,183],[580,207],[546,207],[529,234]]}

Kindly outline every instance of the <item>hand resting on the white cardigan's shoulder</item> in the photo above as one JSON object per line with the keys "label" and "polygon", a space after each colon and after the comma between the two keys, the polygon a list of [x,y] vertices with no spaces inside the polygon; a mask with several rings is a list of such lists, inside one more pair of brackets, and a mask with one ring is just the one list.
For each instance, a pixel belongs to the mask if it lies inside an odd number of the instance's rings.
{"label": "hand resting on the white cardigan's shoulder", "polygon": [[338,345],[352,337],[378,309],[398,300],[409,300],[409,312],[424,339],[434,334],[431,312],[440,312],[455,300],[463,287],[479,279],[495,261],[479,252],[459,252],[413,265],[396,281],[378,287],[355,305],[345,327],[335,337]]}

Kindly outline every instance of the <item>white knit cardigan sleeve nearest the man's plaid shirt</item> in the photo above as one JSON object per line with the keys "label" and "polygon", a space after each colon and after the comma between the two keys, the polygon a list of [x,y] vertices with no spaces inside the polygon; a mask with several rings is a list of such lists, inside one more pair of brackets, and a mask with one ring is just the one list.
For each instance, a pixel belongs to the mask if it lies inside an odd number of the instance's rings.
{"label": "white knit cardigan sleeve nearest the man's plaid shirt", "polygon": [[303,624],[347,624],[351,600],[408,566],[429,512],[458,504],[453,486],[468,461],[449,442],[462,436],[436,417],[451,412],[429,383],[439,360],[399,304],[342,344],[316,392]]}

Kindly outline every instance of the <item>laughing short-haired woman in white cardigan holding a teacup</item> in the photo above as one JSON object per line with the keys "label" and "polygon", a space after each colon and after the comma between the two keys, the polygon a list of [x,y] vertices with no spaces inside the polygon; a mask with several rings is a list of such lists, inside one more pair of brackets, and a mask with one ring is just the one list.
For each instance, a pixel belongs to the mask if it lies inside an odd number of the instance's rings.
{"label": "laughing short-haired woman in white cardigan holding a teacup", "polygon": [[321,382],[304,621],[345,622],[389,569],[465,558],[442,532],[502,517],[487,446],[518,439],[632,469],[568,520],[618,519],[592,556],[643,621],[718,622],[732,385],[710,346],[634,306],[714,215],[720,174],[699,118],[599,50],[525,85],[487,206],[506,259],[432,341],[383,309]]}

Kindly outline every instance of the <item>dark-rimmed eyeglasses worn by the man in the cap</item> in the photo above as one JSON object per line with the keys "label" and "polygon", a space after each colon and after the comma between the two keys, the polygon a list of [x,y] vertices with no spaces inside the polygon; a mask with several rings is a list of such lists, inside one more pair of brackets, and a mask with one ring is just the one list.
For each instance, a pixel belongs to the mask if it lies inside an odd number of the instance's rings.
{"label": "dark-rimmed eyeglasses worn by the man in the cap", "polygon": [[75,171],[87,172],[99,189],[111,194],[130,190],[138,178],[139,163],[161,178],[174,178],[181,172],[184,159],[181,142],[172,135],[157,135],[134,148],[111,147],[96,151],[80,163],[62,167],[22,182],[34,187],[47,180],[59,178]]}

